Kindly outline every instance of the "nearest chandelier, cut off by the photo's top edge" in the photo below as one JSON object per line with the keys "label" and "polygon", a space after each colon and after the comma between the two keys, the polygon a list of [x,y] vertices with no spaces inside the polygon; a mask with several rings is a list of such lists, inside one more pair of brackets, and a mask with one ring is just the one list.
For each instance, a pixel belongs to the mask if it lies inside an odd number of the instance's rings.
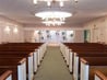
{"label": "nearest chandelier, cut off by the photo's top edge", "polygon": [[[63,7],[63,4],[64,4],[63,2],[70,1],[70,0],[33,0],[34,4],[37,4],[38,1],[47,2],[48,7],[50,7],[51,3],[59,2],[59,5]],[[78,0],[74,0],[74,2],[78,3]]]}

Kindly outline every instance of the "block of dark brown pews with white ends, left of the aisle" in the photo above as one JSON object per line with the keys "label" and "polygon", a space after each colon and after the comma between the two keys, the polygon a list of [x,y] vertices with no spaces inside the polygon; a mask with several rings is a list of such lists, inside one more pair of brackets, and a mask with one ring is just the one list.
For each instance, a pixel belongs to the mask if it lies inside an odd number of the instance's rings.
{"label": "block of dark brown pews with white ends, left of the aisle", "polygon": [[33,80],[46,49],[44,43],[0,44],[0,80]]}

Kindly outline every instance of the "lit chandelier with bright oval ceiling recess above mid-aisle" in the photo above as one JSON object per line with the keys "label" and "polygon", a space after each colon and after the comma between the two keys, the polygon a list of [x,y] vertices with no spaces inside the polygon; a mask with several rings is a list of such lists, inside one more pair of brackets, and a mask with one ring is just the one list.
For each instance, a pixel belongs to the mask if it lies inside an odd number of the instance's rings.
{"label": "lit chandelier with bright oval ceiling recess above mid-aisle", "polygon": [[35,16],[41,18],[44,24],[55,26],[64,24],[66,18],[72,16],[72,13],[62,11],[47,11],[35,13]]}

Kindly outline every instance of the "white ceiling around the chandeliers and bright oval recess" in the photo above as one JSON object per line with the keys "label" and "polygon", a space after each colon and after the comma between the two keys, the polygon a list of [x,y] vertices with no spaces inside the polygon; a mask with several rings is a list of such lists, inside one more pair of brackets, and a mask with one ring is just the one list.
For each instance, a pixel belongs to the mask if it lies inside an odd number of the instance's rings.
{"label": "white ceiling around the chandeliers and bright oval recess", "polygon": [[79,0],[78,4],[70,0],[64,2],[63,8],[60,8],[57,2],[49,8],[46,2],[38,2],[37,5],[34,5],[33,0],[0,0],[0,14],[23,24],[41,24],[35,13],[49,10],[72,12],[73,16],[67,19],[66,25],[79,25],[106,15],[107,0]]}

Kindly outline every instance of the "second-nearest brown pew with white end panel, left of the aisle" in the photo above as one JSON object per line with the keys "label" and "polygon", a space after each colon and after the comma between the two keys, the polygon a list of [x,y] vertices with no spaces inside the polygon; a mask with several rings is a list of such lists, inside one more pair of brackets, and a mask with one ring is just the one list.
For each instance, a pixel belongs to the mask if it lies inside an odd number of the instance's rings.
{"label": "second-nearest brown pew with white end panel, left of the aisle", "polygon": [[12,70],[13,80],[26,80],[25,58],[0,58],[0,69]]}

